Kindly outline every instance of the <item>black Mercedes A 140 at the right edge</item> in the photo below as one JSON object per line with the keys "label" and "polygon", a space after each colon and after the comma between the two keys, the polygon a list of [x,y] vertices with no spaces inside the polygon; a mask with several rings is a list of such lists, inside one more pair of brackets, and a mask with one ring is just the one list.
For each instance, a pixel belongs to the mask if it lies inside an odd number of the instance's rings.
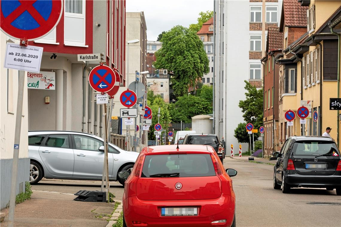
{"label": "black Mercedes A 140 at the right edge", "polygon": [[336,189],[341,195],[341,158],[335,141],[322,136],[289,137],[273,172],[273,188],[290,193],[291,188]]}

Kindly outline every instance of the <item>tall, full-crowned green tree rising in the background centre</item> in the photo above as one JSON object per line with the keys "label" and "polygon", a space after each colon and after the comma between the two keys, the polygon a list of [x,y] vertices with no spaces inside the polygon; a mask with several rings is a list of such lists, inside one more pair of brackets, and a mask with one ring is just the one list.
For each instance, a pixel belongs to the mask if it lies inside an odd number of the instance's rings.
{"label": "tall, full-crowned green tree rising in the background centre", "polygon": [[155,68],[173,72],[170,82],[175,96],[187,94],[188,87],[209,72],[203,42],[188,28],[175,26],[162,36],[162,47],[155,52]]}

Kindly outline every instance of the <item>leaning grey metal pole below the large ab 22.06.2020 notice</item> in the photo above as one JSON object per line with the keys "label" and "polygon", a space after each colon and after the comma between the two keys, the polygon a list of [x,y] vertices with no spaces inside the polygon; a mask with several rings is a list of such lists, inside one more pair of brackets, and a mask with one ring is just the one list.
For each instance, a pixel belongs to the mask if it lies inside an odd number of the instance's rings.
{"label": "leaning grey metal pole below the large ab 22.06.2020 notice", "polygon": [[14,224],[14,208],[15,208],[15,197],[16,197],[16,192],[17,192],[19,144],[20,144],[21,118],[22,118],[22,113],[23,113],[24,86],[25,86],[25,71],[19,70],[17,115],[16,115],[16,119],[15,119],[12,181],[11,181],[11,194],[10,194],[10,208],[9,208],[9,215],[8,215],[8,226],[13,226],[13,224]]}

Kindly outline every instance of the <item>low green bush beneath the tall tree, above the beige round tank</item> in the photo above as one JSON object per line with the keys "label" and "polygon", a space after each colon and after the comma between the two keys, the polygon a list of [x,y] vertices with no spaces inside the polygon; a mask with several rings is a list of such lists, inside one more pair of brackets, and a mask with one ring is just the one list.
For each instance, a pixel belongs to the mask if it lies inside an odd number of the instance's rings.
{"label": "low green bush beneath the tall tree, above the beige round tank", "polygon": [[172,122],[178,123],[182,120],[183,123],[191,123],[193,116],[211,113],[212,106],[202,97],[184,95],[169,105],[169,112]]}

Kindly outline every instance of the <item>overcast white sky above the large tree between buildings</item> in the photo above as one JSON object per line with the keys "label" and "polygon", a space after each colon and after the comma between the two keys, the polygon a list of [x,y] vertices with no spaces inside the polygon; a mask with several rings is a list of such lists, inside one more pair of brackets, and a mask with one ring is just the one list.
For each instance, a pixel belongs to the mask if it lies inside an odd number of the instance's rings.
{"label": "overcast white sky above the large tree between buildings", "polygon": [[176,25],[197,23],[200,12],[213,11],[213,0],[127,0],[126,12],[144,12],[147,40],[156,41],[162,31]]}

